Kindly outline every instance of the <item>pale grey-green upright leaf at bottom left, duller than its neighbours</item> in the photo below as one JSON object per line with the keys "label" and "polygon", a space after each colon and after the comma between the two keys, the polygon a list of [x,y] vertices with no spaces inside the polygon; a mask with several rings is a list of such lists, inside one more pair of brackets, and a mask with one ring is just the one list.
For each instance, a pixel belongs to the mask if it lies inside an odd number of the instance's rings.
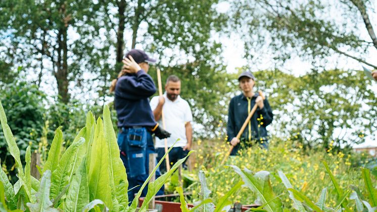
{"label": "pale grey-green upright leaf at bottom left, duller than its neighbours", "polygon": [[38,193],[36,194],[36,203],[26,203],[31,212],[56,212],[59,211],[53,208],[53,203],[50,201],[50,187],[51,187],[51,171],[47,170],[43,173],[42,179],[40,181],[40,186]]}

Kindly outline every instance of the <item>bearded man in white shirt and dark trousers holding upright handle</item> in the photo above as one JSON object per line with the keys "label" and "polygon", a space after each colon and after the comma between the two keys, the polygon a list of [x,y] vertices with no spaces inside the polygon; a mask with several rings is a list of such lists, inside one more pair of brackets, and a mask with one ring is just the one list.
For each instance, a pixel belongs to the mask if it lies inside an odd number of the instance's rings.
{"label": "bearded man in white shirt and dark trousers holding upright handle", "polygon": [[[191,149],[193,128],[191,121],[193,121],[193,114],[191,113],[190,105],[187,101],[180,98],[181,81],[175,75],[170,75],[165,84],[165,93],[163,97],[153,97],[150,105],[155,116],[155,120],[162,126],[161,113],[164,113],[164,121],[166,131],[171,133],[170,138],[167,139],[168,148],[174,142],[179,141],[174,145],[169,152],[170,164],[174,164],[179,159],[185,157]],[[165,154],[164,139],[156,138],[155,144],[156,152],[159,161]],[[185,167],[185,164],[183,164]],[[161,173],[166,172],[166,163],[162,162],[160,165]]]}

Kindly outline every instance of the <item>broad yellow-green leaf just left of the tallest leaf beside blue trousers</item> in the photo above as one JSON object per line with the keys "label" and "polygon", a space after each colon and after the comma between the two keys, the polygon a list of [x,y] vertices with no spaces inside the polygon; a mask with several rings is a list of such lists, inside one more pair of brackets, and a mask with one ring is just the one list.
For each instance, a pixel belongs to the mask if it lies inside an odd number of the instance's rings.
{"label": "broad yellow-green leaf just left of the tallest leaf beside blue trousers", "polygon": [[[110,187],[109,173],[109,149],[104,137],[104,125],[101,118],[98,118],[95,138],[91,148],[89,180],[89,199],[101,199],[106,206],[112,210],[112,190]],[[126,193],[127,190],[124,190]]]}

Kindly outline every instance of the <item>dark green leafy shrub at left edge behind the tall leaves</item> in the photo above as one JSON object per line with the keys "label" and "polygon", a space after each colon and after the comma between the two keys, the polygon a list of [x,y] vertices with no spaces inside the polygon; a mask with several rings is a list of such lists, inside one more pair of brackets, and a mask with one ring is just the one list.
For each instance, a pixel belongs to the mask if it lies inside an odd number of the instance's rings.
{"label": "dark green leafy shrub at left edge behind the tall leaves", "polygon": [[[20,168],[22,167],[21,161],[25,161],[26,148],[29,144],[31,150],[38,148],[44,125],[43,114],[46,109],[44,109],[43,101],[46,100],[46,96],[36,86],[19,82],[7,84],[0,93],[0,100],[8,112],[8,119],[11,120],[9,127],[16,135],[15,144],[20,148],[20,150],[14,151],[9,149],[11,146],[8,146],[6,141],[11,138],[6,138],[3,131],[0,131],[0,160],[7,167],[10,175],[15,176],[15,171],[11,170],[15,164],[11,154],[13,152],[20,155],[20,161],[16,161],[17,168]],[[4,126],[2,127],[4,129]],[[11,181],[15,183],[16,179],[13,178]]]}

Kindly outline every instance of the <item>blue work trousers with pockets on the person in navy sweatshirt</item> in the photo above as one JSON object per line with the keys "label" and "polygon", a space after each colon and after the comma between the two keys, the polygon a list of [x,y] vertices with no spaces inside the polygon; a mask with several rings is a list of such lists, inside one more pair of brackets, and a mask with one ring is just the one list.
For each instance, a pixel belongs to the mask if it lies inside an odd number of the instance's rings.
{"label": "blue work trousers with pockets on the person in navy sweatshirt", "polygon": [[[149,153],[155,152],[152,135],[145,128],[122,128],[118,134],[118,146],[120,158],[126,168],[128,190],[131,189],[128,191],[128,201],[131,203],[149,176]],[[160,172],[157,170],[156,178],[159,176]],[[148,186],[143,189],[141,196],[146,196],[147,191]]]}

